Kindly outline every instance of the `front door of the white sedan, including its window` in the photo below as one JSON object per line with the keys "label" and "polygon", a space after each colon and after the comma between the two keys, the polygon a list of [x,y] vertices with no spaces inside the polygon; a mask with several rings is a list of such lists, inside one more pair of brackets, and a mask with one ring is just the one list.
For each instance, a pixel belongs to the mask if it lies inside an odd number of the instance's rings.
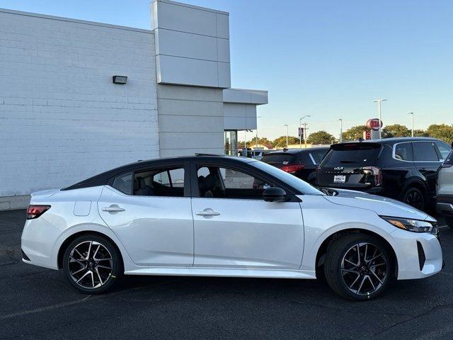
{"label": "front door of the white sedan, including its window", "polygon": [[244,169],[193,164],[194,266],[299,268],[304,226],[299,202],[265,202],[272,181]]}

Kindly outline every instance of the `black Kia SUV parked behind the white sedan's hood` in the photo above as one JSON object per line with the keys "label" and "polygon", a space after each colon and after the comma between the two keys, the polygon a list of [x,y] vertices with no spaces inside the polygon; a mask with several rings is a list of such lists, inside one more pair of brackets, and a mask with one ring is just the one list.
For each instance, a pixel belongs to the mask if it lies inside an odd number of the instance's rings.
{"label": "black Kia SUV parked behind the white sedan's hood", "polygon": [[316,170],[316,183],[396,198],[425,210],[435,196],[437,169],[450,149],[429,137],[332,145]]}

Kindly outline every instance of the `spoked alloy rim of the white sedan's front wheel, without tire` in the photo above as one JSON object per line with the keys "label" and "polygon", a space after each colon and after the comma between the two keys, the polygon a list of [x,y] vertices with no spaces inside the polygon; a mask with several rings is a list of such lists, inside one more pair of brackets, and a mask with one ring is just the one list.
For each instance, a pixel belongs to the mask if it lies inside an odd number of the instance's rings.
{"label": "spoked alloy rim of the white sedan's front wheel, without tire", "polygon": [[360,242],[346,251],[341,261],[341,278],[357,295],[370,295],[384,284],[388,261],[378,246]]}

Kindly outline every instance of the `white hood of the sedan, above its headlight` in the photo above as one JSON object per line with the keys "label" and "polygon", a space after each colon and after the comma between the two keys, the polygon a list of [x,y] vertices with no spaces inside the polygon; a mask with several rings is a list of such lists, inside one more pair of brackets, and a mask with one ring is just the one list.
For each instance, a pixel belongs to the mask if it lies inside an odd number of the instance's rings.
{"label": "white hood of the sedan, above its headlight", "polygon": [[430,215],[405,203],[391,198],[370,195],[360,191],[335,189],[337,196],[324,196],[326,200],[347,207],[372,210],[377,215],[413,218],[414,220],[435,221]]}

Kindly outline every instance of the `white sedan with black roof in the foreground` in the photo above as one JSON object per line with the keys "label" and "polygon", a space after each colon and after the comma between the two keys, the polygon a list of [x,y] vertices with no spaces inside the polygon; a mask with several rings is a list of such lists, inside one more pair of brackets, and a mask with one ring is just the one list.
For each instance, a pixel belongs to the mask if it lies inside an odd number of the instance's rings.
{"label": "white sedan with black roof in the foreground", "polygon": [[89,294],[123,275],[324,275],[339,295],[366,300],[395,278],[442,269],[436,220],[420,210],[213,155],[136,162],[33,193],[22,251]]}

